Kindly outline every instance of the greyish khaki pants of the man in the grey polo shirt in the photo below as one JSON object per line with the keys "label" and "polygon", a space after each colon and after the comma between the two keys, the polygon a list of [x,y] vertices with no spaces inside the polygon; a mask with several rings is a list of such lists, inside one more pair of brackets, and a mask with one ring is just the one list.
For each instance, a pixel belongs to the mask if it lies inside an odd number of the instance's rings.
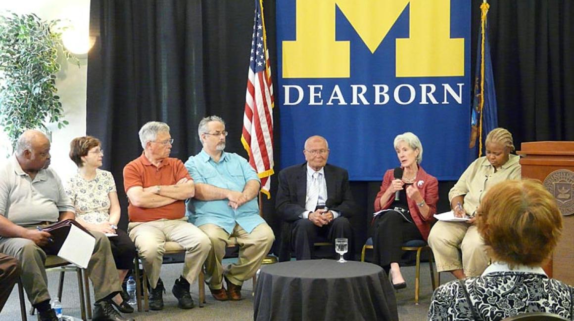
{"label": "greyish khaki pants of the man in the grey polo shirt", "polygon": [[[122,291],[111,254],[110,241],[99,232],[91,232],[96,238],[94,252],[88,263],[88,276],[94,285],[94,299],[103,299],[113,292]],[[32,304],[50,299],[48,277],[44,262],[46,253],[34,242],[20,237],[0,238],[0,252],[14,256],[22,268],[22,285]]]}

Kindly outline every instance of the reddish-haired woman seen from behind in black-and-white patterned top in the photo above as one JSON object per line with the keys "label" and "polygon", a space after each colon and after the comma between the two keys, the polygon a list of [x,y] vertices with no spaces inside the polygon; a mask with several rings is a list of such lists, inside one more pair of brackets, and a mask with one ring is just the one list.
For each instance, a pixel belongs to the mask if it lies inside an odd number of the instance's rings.
{"label": "reddish-haired woman seen from behind in black-and-white patterned top", "polygon": [[561,235],[562,215],[540,182],[493,186],[480,202],[476,225],[492,264],[481,276],[437,288],[429,320],[502,320],[525,312],[574,318],[574,289],[542,269]]}

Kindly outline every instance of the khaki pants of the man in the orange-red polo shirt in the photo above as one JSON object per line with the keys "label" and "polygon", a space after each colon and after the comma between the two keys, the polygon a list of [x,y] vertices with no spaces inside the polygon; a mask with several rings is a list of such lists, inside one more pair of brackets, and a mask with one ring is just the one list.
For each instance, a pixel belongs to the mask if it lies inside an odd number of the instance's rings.
{"label": "khaki pants of the man in the orange-red polo shirt", "polygon": [[192,284],[211,249],[210,239],[195,225],[180,220],[156,220],[131,222],[128,226],[130,238],[138,249],[149,284],[156,288],[160,279],[161,264],[165,253],[165,242],[177,242],[185,249],[184,267],[181,275]]}

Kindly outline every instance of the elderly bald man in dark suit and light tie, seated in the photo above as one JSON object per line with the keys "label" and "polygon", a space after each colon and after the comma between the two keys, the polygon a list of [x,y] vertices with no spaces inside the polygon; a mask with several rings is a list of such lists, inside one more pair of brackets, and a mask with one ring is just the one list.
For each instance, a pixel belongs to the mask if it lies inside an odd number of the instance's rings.
{"label": "elderly bald man in dark suit and light tie, seated", "polygon": [[[329,147],[321,136],[305,141],[307,162],[281,171],[276,210],[289,228],[283,229],[282,248],[295,250],[297,260],[313,259],[313,243],[326,238],[349,240],[346,259],[354,259],[353,231],[348,220],[355,212],[348,173],[327,164]],[[290,233],[289,233],[290,232]],[[333,256],[335,253],[333,253]],[[280,260],[289,260],[285,255]]]}

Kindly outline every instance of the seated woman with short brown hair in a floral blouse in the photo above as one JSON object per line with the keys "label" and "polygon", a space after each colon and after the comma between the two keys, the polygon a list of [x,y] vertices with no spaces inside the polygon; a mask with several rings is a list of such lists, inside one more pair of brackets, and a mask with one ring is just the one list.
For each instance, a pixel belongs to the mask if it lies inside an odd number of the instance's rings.
{"label": "seated woman with short brown hair in a floral blouse", "polygon": [[[76,220],[84,228],[110,236],[111,250],[119,279],[123,280],[133,267],[135,246],[124,230],[118,229],[121,208],[114,177],[102,166],[102,144],[91,136],[77,137],[70,143],[70,158],[78,167],[77,174],[69,179],[66,193],[76,208]],[[121,293],[113,302],[119,311],[131,313],[134,309],[127,304],[129,297]]]}

